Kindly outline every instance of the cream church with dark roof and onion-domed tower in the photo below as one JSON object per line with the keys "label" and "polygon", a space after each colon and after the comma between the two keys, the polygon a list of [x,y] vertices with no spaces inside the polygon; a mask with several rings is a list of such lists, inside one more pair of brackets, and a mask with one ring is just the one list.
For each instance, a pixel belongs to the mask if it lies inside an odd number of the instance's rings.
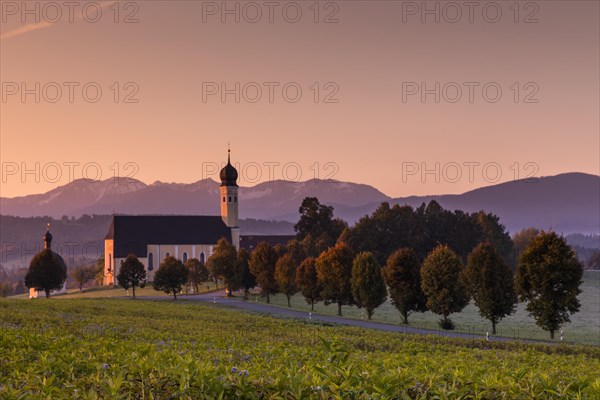
{"label": "cream church with dark roof and onion-domed tower", "polygon": [[152,281],[167,256],[184,263],[188,258],[206,262],[221,238],[239,250],[238,172],[231,165],[230,151],[219,177],[220,216],[114,215],[104,238],[104,285],[117,285],[119,266],[129,254],[144,264]]}

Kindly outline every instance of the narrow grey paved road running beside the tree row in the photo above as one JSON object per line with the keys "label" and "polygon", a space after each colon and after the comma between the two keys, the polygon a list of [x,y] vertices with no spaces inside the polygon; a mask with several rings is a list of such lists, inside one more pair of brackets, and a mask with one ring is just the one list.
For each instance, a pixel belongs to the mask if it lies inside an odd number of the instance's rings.
{"label": "narrow grey paved road running beside the tree row", "polygon": [[[140,297],[147,298],[152,300],[166,300],[165,297]],[[306,320],[309,318],[309,314],[303,311],[297,311],[289,308],[283,308],[278,306],[273,306],[264,303],[257,303],[252,301],[244,301],[238,297],[226,297],[225,291],[217,291],[211,293],[205,293],[194,296],[179,296],[178,299],[186,299],[188,301],[201,301],[205,303],[215,303],[224,305],[227,307],[240,308],[243,310],[248,310],[252,312],[263,313],[267,315],[272,315],[275,317],[285,317],[285,318],[295,318],[295,319],[303,319]],[[388,331],[388,332],[399,332],[399,333],[410,333],[410,334],[419,334],[419,335],[438,335],[438,336],[446,336],[446,337],[454,337],[454,338],[462,338],[462,339],[484,339],[484,336],[469,334],[469,333],[460,333],[460,332],[452,332],[452,331],[436,331],[429,329],[420,329],[412,326],[404,326],[404,325],[390,325],[383,324],[380,322],[372,322],[372,321],[363,321],[356,319],[349,319],[344,317],[330,316],[330,315],[322,315],[312,313],[310,316],[312,321],[320,321],[320,322],[328,322],[333,324],[340,325],[349,325],[349,326],[358,326],[361,328],[369,328],[369,329],[378,329],[380,331]],[[513,340],[511,338],[504,337],[490,337],[490,340],[499,340],[499,341],[510,341]]]}

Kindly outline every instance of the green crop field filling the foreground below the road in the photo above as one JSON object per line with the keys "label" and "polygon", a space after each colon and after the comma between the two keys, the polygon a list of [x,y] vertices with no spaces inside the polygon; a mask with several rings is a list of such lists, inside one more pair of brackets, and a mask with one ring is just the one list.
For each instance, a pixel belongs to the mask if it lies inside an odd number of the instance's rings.
{"label": "green crop field filling the foreground below the road", "polygon": [[2,399],[600,398],[600,349],[274,319],[213,304],[0,300]]}

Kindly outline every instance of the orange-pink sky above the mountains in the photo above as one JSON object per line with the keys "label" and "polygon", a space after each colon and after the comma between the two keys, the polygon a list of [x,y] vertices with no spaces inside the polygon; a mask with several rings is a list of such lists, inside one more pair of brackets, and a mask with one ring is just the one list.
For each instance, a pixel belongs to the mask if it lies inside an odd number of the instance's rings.
{"label": "orange-pink sky above the mountains", "polygon": [[597,1],[1,3],[3,197],[71,171],[215,179],[228,143],[242,186],[600,173]]}

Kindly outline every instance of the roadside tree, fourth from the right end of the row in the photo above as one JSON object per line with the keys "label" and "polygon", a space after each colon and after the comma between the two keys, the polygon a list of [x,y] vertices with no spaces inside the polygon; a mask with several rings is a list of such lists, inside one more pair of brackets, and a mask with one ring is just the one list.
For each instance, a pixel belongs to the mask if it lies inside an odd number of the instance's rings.
{"label": "roadside tree, fourth from the right end of the row", "polygon": [[412,311],[427,311],[427,297],[421,290],[421,264],[414,249],[405,247],[393,252],[383,267],[383,277],[403,324],[408,324]]}

